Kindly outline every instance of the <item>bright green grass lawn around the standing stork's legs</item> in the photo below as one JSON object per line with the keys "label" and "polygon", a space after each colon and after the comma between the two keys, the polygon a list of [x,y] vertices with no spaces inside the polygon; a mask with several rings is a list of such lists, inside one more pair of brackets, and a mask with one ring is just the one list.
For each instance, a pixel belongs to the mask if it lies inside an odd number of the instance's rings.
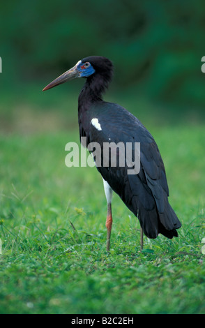
{"label": "bright green grass lawn around the standing stork's legs", "polygon": [[117,195],[111,251],[95,167],[66,167],[78,133],[0,137],[0,313],[204,313],[204,126],[150,128],[183,227],[144,238]]}

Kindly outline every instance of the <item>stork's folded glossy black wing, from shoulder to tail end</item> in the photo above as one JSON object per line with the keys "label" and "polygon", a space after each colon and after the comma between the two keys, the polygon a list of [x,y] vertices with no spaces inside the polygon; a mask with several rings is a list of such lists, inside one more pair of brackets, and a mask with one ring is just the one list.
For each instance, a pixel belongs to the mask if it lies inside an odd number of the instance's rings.
{"label": "stork's folded glossy black wing, from shoulder to tail end", "polygon": [[[90,142],[98,142],[101,150],[105,142],[115,144],[130,142],[132,143],[132,160],[135,157],[135,142],[140,143],[138,174],[128,174],[130,167],[127,163],[121,167],[117,161],[116,167],[112,167],[109,161],[108,167],[103,166],[103,152],[101,152],[101,166],[96,166],[103,179],[139,218],[144,233],[148,237],[157,237],[163,228],[165,230],[179,228],[179,220],[167,199],[169,189],[165,167],[152,135],[123,107],[113,103],[103,103],[103,105],[101,103],[99,107],[93,110],[92,119],[98,120],[98,125],[91,123]],[[112,154],[114,155],[119,156],[117,149],[116,153]]]}

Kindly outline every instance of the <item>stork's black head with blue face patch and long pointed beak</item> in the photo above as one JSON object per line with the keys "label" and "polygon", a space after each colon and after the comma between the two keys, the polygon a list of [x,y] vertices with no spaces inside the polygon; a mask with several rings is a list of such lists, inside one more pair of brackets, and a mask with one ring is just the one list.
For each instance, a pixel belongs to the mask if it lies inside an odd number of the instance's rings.
{"label": "stork's black head with blue face patch and long pointed beak", "polygon": [[100,75],[105,82],[109,82],[112,78],[112,62],[101,56],[90,56],[77,61],[77,64],[70,70],[67,70],[61,76],[47,85],[43,91],[56,87],[59,84],[73,80],[77,77],[87,77],[91,79],[93,76]]}

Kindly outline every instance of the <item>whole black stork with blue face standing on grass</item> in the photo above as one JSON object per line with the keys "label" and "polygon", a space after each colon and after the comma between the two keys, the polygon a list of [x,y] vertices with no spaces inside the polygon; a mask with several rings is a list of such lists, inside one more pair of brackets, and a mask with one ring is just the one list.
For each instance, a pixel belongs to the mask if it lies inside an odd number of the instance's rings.
{"label": "whole black stork with blue face standing on grass", "polygon": [[[139,218],[141,225],[141,248],[143,232],[149,238],[156,238],[161,233],[172,239],[178,237],[176,229],[181,227],[179,218],[168,202],[169,189],[165,166],[155,140],[142,123],[126,109],[115,103],[102,100],[102,94],[112,79],[113,65],[109,59],[100,56],[86,57],[47,85],[43,91],[56,87],[76,77],[85,77],[86,82],[78,98],[79,135],[86,137],[86,147],[91,142],[103,144],[119,142],[131,143],[131,160],[134,156],[134,145],[140,143],[139,170],[128,174],[129,163],[120,165],[119,148],[109,151],[107,165],[96,167],[102,175],[107,198],[107,251],[112,230],[112,191],[117,193],[128,209]],[[103,151],[101,153],[102,161]],[[112,156],[116,165],[112,165]],[[135,163],[135,162],[134,162]],[[135,169],[131,161],[132,170]]]}

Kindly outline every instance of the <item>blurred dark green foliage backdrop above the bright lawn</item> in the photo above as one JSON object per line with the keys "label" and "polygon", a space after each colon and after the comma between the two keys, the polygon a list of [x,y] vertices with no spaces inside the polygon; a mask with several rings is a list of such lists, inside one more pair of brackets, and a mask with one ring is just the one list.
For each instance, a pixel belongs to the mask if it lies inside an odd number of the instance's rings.
{"label": "blurred dark green foliage backdrop above the bright lawn", "polygon": [[201,124],[204,31],[203,1],[3,1],[1,133],[77,128],[77,95],[84,81],[41,90],[89,55],[113,61],[106,99],[148,128]]}

